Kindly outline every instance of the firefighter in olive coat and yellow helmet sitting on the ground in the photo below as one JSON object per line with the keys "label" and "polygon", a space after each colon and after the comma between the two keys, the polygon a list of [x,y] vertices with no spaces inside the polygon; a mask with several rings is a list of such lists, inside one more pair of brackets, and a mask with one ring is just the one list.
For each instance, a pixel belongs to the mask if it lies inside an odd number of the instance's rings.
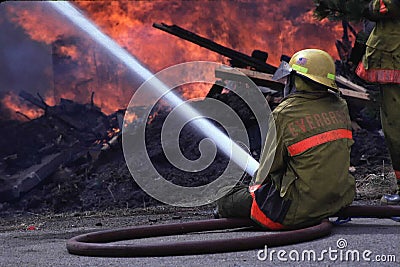
{"label": "firefighter in olive coat and yellow helmet sitting on the ground", "polygon": [[351,122],[328,53],[299,51],[274,76],[286,77],[287,95],[272,112],[277,148],[271,169],[265,167],[270,153],[264,147],[252,185],[235,186],[218,200],[218,213],[251,217],[273,230],[301,228],[353,201]]}

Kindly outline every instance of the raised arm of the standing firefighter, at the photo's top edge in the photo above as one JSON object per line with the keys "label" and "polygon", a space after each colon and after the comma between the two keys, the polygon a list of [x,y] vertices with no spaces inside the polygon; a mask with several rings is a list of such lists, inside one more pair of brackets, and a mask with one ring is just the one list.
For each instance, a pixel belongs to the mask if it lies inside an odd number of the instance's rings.
{"label": "raised arm of the standing firefighter, at the photo's top edge", "polygon": [[400,18],[400,0],[372,0],[365,17],[372,21]]}

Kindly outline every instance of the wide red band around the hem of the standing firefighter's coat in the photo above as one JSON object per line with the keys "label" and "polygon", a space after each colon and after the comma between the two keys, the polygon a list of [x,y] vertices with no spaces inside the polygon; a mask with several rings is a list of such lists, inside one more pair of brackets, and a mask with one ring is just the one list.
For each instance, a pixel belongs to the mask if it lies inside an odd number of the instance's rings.
{"label": "wide red band around the hem of the standing firefighter's coat", "polygon": [[364,64],[360,62],[356,69],[356,74],[363,80],[372,83],[396,83],[400,84],[400,70],[386,69],[365,69]]}

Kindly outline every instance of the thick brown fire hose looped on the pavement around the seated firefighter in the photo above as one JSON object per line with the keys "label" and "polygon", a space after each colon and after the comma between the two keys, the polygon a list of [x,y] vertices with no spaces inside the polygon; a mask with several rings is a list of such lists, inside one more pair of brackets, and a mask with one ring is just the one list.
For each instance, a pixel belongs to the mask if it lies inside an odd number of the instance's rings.
{"label": "thick brown fire hose looped on the pavement around the seated firefighter", "polygon": [[[396,206],[349,206],[332,217],[391,218],[397,216],[400,216],[400,207]],[[234,252],[312,241],[330,235],[333,225],[325,219],[320,224],[307,228],[252,237],[159,244],[108,244],[125,240],[244,227],[256,228],[256,224],[250,218],[224,218],[98,231],[71,238],[67,242],[67,250],[71,254],[95,257],[157,257]]]}

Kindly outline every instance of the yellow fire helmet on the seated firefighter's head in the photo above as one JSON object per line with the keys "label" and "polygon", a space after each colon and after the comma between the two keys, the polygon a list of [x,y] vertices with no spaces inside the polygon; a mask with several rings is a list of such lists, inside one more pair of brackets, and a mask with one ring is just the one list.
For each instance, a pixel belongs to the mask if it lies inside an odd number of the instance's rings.
{"label": "yellow fire helmet on the seated firefighter's head", "polygon": [[327,52],[319,49],[301,50],[292,56],[289,66],[297,75],[338,91],[335,62]]}

